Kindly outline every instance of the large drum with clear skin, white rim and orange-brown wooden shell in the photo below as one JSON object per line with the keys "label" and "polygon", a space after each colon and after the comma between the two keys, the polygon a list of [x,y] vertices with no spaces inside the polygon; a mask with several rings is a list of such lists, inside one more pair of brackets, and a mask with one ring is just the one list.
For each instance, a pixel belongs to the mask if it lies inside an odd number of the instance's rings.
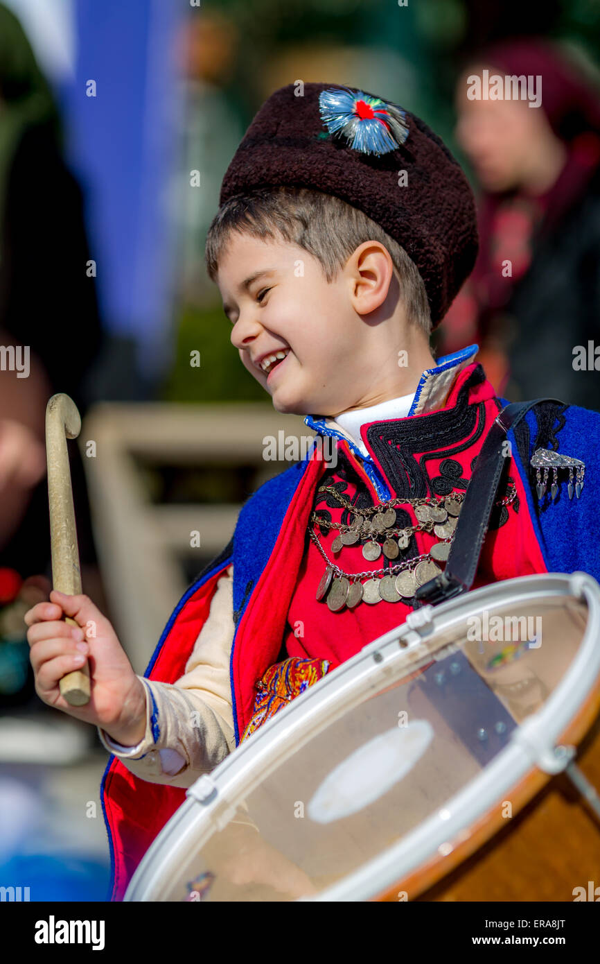
{"label": "large drum with clear skin, white rim and orange-brown wooden shell", "polygon": [[[531,841],[517,855],[529,892],[452,887],[565,767],[581,775],[572,760],[599,709],[591,576],[523,576],[414,610],[196,781],[125,900],[572,900],[585,863],[544,897]],[[600,823],[575,806],[600,867]],[[573,859],[560,832],[549,849],[556,883]]]}

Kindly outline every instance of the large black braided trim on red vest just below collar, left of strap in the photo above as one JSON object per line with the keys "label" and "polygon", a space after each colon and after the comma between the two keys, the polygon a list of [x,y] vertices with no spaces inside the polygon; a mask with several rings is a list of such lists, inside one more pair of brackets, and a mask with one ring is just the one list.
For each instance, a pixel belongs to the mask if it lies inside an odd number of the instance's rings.
{"label": "large black braided trim on red vest just below collar, left of strap", "polygon": [[[374,422],[367,429],[367,442],[399,498],[421,498],[431,495],[430,479],[425,469],[430,459],[457,455],[477,442],[485,426],[485,403],[469,404],[469,388],[485,380],[478,365],[458,393],[457,405],[450,410],[432,412],[422,418]],[[458,442],[458,443],[457,443]],[[430,452],[445,445],[445,451]],[[425,452],[419,463],[414,452]],[[452,460],[451,460],[452,461]],[[448,469],[450,469],[450,465]],[[437,481],[439,479],[439,481]],[[436,485],[448,477],[436,477]]]}

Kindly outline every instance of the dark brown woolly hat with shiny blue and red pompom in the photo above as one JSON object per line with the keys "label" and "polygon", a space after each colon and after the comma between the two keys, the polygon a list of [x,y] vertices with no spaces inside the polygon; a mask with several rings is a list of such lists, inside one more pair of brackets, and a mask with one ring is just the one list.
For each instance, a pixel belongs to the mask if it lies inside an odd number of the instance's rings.
{"label": "dark brown woolly hat with shiny blue and red pompom", "polygon": [[477,219],[462,169],[423,120],[365,91],[288,84],[250,123],[220,203],[276,185],[324,191],[376,221],[417,265],[439,324],[475,264]]}

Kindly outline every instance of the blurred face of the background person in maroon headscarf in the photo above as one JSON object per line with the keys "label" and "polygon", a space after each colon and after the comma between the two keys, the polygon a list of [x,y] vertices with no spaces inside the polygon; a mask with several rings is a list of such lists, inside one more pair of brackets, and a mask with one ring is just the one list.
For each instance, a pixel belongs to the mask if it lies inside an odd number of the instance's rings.
{"label": "blurred face of the background person in maroon headscarf", "polygon": [[[504,71],[487,69],[489,77],[496,74],[504,80]],[[483,67],[470,67],[458,79],[455,136],[483,189],[495,193],[529,188],[535,192],[550,187],[561,170],[564,148],[543,106],[530,107],[526,99],[470,100],[467,78],[475,74],[482,77]]]}

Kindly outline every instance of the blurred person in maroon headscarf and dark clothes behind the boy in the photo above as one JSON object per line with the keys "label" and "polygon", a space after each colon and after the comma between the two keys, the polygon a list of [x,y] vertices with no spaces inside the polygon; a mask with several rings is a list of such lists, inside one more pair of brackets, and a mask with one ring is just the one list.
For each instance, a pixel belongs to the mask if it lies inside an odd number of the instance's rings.
{"label": "blurred person in maroon headscarf and dark clothes behind the boy", "polygon": [[[539,106],[469,99],[469,78],[484,81],[484,68],[503,83],[533,77]],[[490,381],[511,399],[552,395],[598,410],[600,88],[588,72],[535,39],[499,42],[465,63],[456,136],[480,185],[481,246],[438,348],[479,343]],[[577,361],[589,341],[598,370]]]}

